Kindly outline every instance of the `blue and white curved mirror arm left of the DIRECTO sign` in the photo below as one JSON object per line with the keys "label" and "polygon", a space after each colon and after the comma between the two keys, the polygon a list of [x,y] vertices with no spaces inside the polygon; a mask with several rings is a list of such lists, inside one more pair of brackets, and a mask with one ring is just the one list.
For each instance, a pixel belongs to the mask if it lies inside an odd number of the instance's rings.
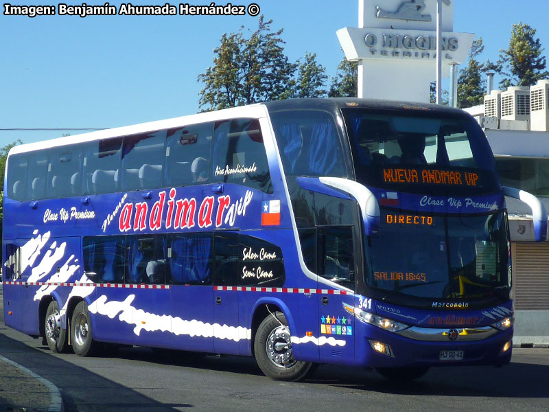
{"label": "blue and white curved mirror arm left of the DIRECTO sign", "polygon": [[[355,198],[360,207],[366,236],[379,236],[379,204],[375,195],[364,185],[340,177],[298,177],[297,183],[305,190],[344,197],[341,192],[338,192],[338,190],[341,190]],[[348,196],[345,197],[349,198]]]}

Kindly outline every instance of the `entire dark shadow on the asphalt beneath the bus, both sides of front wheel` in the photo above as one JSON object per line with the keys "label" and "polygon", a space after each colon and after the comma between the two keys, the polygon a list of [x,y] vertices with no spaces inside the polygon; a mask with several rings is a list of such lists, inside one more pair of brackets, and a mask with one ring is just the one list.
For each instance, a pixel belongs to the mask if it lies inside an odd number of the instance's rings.
{"label": "entire dark shadow on the asphalt beneath the bus, both sides of front wheel", "polygon": [[[255,363],[255,359],[246,356],[217,357],[176,350],[154,351],[147,347],[124,348],[110,356],[268,379]],[[314,373],[307,376],[305,384],[394,395],[548,398],[548,387],[543,378],[545,376],[549,376],[549,365],[511,362],[504,367],[433,367],[418,380],[398,382],[383,378],[374,369],[320,365]]]}

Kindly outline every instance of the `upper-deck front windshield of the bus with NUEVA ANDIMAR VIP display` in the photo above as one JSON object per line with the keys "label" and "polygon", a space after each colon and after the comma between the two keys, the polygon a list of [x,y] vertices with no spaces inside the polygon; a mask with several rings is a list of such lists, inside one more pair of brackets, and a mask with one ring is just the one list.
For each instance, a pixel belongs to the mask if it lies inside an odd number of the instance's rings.
{"label": "upper-deck front windshield of the bus with NUEVA ANDIMAR VIP display", "polygon": [[480,126],[460,115],[343,108],[356,180],[406,192],[501,190]]}

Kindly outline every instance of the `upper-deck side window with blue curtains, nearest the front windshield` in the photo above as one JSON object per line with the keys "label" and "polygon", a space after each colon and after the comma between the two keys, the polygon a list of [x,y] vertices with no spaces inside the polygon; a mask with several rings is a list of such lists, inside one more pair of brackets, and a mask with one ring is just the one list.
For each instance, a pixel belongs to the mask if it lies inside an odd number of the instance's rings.
{"label": "upper-deck side window with blue curtains, nearest the front windshield", "polygon": [[323,111],[271,114],[286,176],[347,177],[334,118]]}

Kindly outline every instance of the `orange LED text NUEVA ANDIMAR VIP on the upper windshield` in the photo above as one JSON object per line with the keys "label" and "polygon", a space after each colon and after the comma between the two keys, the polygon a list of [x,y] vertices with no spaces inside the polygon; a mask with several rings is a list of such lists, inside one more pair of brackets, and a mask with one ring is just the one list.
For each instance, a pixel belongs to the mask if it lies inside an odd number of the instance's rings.
{"label": "orange LED text NUEVA ANDIMAR VIP on the upper windshield", "polygon": [[447,185],[476,187],[478,173],[458,172],[457,170],[417,169],[417,168],[383,168],[385,183],[404,185]]}

